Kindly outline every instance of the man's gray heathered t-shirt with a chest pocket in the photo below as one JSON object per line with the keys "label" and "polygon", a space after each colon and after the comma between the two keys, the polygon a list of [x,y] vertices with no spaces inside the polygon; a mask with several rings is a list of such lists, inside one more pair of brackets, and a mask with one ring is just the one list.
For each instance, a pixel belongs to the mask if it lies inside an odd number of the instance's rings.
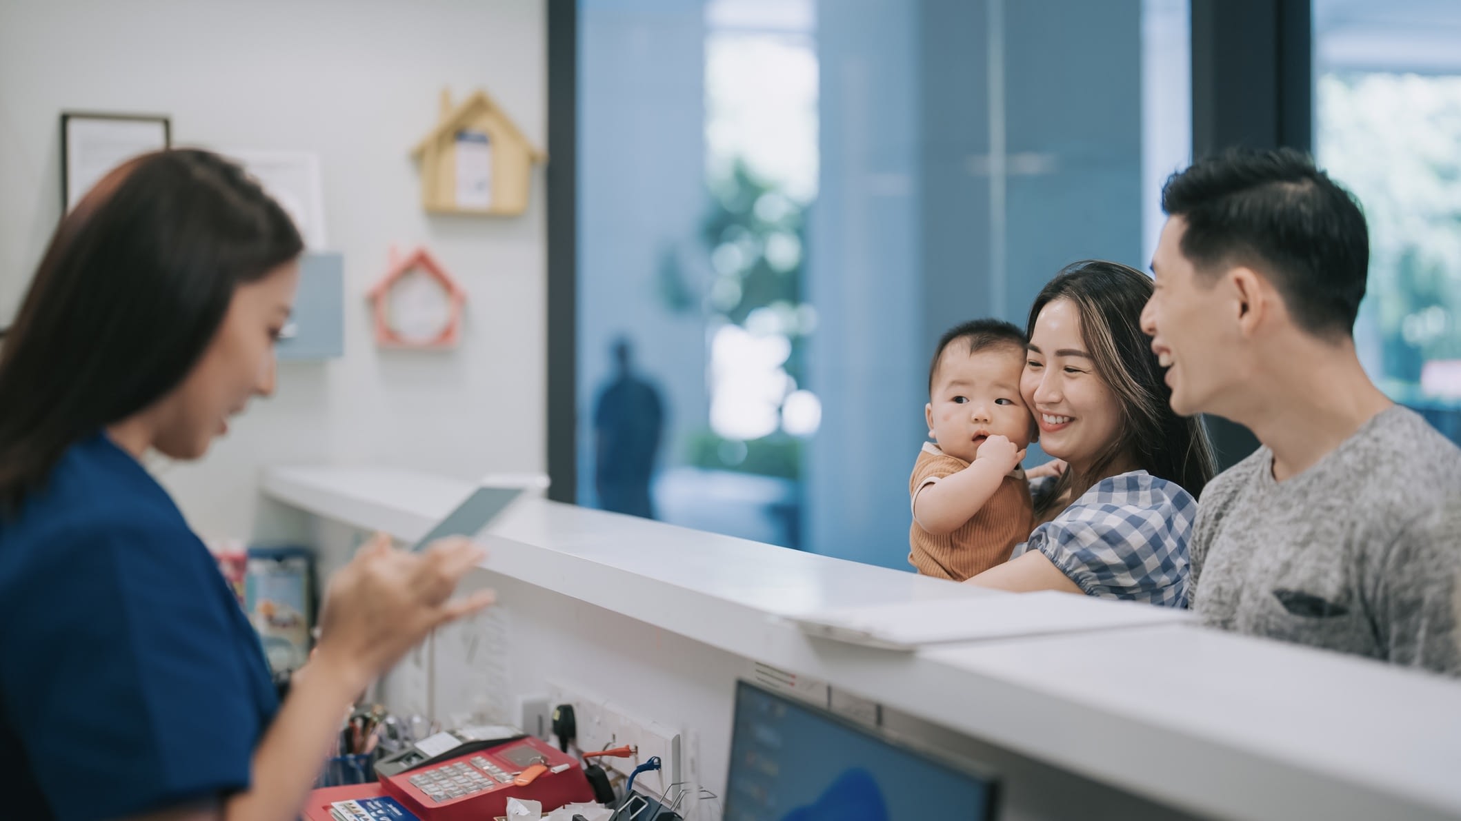
{"label": "man's gray heathered t-shirt with a chest pocket", "polygon": [[1283,482],[1258,448],[1189,549],[1208,625],[1461,676],[1461,450],[1407,408]]}

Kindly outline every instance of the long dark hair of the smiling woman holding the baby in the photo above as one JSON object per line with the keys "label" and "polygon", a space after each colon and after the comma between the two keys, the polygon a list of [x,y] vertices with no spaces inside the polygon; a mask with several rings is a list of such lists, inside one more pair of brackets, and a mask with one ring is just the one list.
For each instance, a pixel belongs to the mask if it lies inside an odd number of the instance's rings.
{"label": "long dark hair of the smiling woman holding the baby", "polygon": [[[1121,405],[1121,435],[1096,457],[1094,476],[1125,456],[1198,497],[1213,478],[1213,448],[1197,418],[1172,412],[1172,389],[1151,352],[1151,339],[1141,332],[1141,310],[1150,298],[1151,279],[1140,270],[1081,260],[1061,269],[1034,298],[1027,333],[1034,336],[1034,320],[1055,299],[1069,299],[1080,311],[1086,349]],[[1056,504],[1074,481],[1067,470],[1043,507]]]}

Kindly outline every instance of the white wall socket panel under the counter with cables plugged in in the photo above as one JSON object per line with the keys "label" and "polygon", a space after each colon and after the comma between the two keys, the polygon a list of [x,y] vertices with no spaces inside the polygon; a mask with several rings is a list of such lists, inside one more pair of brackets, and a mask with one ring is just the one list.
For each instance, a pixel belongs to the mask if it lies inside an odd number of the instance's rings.
{"label": "white wall socket panel under the counter with cables plugged in", "polygon": [[548,681],[548,704],[549,710],[558,704],[573,704],[579,749],[593,752],[624,745],[637,749],[631,758],[599,758],[605,770],[628,776],[652,757],[659,757],[660,770],[641,773],[634,782],[643,792],[653,796],[665,795],[671,784],[687,780],[682,774],[678,729],[631,714],[577,684],[562,681]]}

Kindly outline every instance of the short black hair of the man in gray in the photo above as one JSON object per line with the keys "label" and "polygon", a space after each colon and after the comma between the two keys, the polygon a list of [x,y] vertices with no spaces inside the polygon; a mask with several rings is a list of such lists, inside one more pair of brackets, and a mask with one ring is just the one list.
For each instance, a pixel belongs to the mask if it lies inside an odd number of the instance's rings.
{"label": "short black hair of the man in gray", "polygon": [[1299,327],[1351,336],[1365,298],[1369,232],[1359,202],[1293,149],[1229,149],[1173,174],[1161,210],[1186,222],[1199,273],[1243,264],[1267,276]]}

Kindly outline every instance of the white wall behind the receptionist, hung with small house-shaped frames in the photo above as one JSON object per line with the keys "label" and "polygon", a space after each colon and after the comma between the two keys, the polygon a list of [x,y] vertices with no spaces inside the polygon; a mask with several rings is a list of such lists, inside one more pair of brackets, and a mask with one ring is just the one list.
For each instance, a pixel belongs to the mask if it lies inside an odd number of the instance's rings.
{"label": "white wall behind the receptionist, hung with small house-shaped frames", "polygon": [[[411,148],[443,85],[487,88],[546,143],[543,0],[4,0],[0,324],[60,215],[60,112],[159,112],[175,145],[317,152],[345,256],[345,358],[285,364],[196,465],[164,482],[207,538],[247,536],[269,463],[378,463],[457,478],[545,467],[543,172],[517,219],[428,218]],[[459,349],[375,348],[364,294],[424,243],[469,292]],[[145,364],[139,362],[139,367]]]}

